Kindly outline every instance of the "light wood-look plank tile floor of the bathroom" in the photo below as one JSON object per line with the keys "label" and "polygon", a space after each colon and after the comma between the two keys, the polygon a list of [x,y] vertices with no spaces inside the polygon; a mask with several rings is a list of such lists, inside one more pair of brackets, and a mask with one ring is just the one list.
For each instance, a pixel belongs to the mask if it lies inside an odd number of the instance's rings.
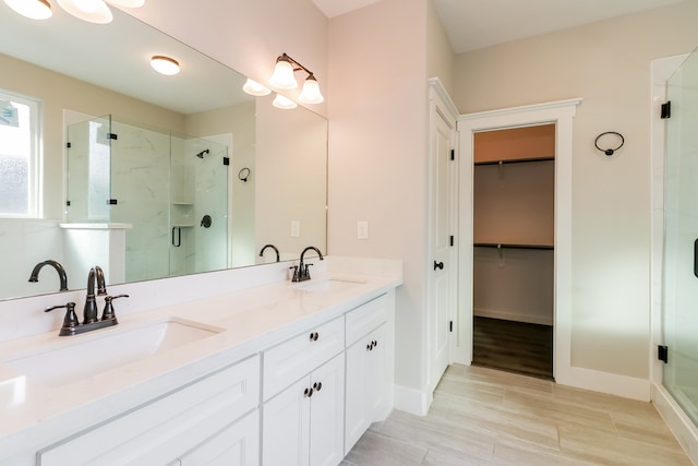
{"label": "light wood-look plank tile floor of the bathroom", "polygon": [[691,465],[652,404],[452,366],[425,417],[395,410],[341,466]]}

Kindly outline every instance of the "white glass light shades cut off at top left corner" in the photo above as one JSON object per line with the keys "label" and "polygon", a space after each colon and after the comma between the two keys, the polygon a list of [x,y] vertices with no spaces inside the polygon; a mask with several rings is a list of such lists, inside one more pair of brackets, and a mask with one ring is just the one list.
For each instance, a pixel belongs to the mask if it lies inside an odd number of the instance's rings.
{"label": "white glass light shades cut off at top left corner", "polygon": [[[145,0],[107,0],[117,7],[139,8]],[[4,0],[15,12],[32,20],[51,17],[51,4],[48,0]],[[83,21],[96,24],[111,23],[113,15],[105,0],[57,0],[58,4],[68,13]]]}

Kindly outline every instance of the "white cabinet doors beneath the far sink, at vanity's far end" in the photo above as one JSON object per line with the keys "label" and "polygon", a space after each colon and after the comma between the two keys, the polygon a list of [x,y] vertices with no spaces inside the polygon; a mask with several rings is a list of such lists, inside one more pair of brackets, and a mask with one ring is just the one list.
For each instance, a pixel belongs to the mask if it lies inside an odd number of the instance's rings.
{"label": "white cabinet doors beneath the far sink, at vanity's far end", "polygon": [[387,324],[383,324],[347,349],[345,454],[387,409]]}

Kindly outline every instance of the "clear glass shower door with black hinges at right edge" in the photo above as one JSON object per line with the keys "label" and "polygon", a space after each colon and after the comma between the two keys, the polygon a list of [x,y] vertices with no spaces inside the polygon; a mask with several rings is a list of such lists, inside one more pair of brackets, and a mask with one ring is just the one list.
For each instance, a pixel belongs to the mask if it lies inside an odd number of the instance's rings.
{"label": "clear glass shower door with black hinges at right edge", "polygon": [[698,55],[667,82],[663,384],[698,425]]}

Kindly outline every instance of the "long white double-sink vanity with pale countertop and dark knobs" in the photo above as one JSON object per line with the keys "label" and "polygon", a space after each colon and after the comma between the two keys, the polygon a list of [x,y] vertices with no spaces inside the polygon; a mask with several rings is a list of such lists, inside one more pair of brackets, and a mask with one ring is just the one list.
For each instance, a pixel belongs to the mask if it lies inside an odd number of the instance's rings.
{"label": "long white double-sink vanity with pale countertop and dark knobs", "polygon": [[0,302],[0,464],[339,464],[393,407],[401,263],[312,262],[113,286],[69,337],[84,290]]}

